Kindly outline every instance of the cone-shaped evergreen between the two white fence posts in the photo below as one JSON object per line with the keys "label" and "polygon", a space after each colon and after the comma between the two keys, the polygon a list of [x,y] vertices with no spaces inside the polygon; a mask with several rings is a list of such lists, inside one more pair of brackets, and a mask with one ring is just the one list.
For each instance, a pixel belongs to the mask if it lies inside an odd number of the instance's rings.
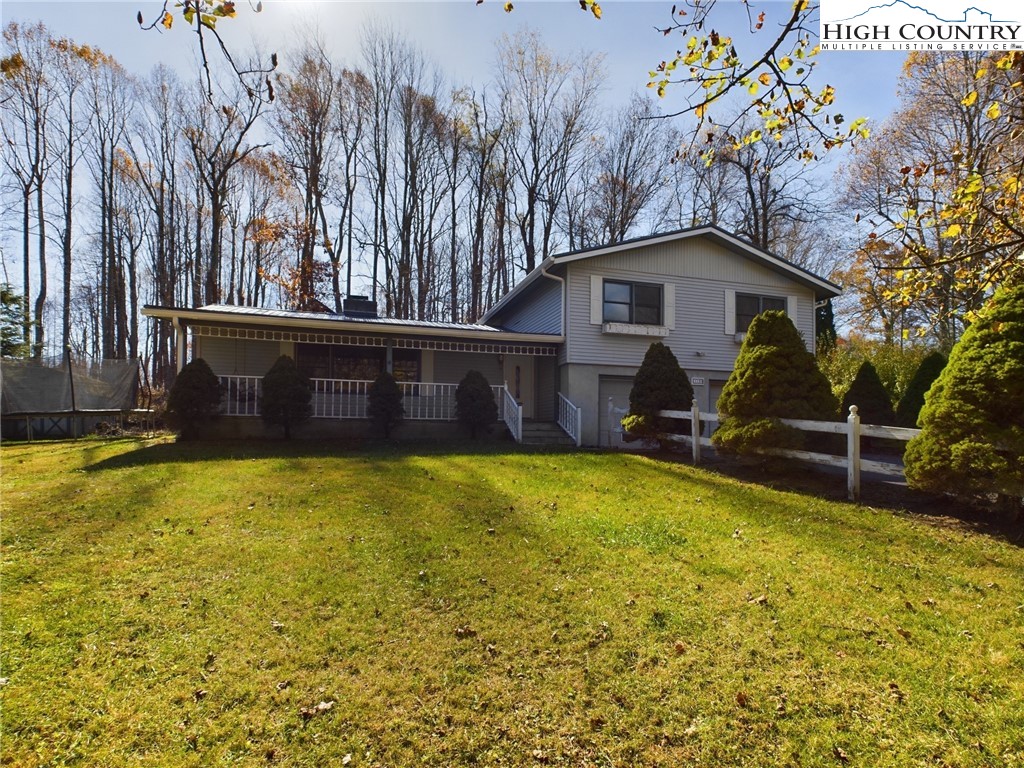
{"label": "cone-shaped evergreen between the two white fence posts", "polygon": [[732,375],[722,388],[722,423],[712,435],[726,452],[800,449],[804,434],[779,419],[836,418],[831,387],[783,311],[759,314],[751,323]]}

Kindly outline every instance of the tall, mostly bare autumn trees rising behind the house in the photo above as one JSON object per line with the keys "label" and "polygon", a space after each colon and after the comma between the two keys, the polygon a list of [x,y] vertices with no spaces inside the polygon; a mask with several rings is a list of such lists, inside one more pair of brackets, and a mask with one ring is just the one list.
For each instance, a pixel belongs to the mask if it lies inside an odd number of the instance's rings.
{"label": "tall, mostly bare autumn trees rising behind the house", "polygon": [[[934,327],[929,302],[961,290],[935,281],[920,301],[879,293],[872,306],[863,297],[889,272],[865,264],[890,241],[835,226],[835,199],[795,139],[694,141],[640,95],[609,110],[602,66],[520,33],[471,88],[377,24],[347,60],[309,38],[271,78],[232,75],[211,100],[167,67],[138,77],[42,25],[9,24],[0,155],[4,268],[16,271],[4,295],[23,352],[139,357],[162,383],[173,330],[140,325],[145,303],[340,310],[347,293],[372,293],[386,316],[472,322],[552,253],[701,223],[824,275],[854,254],[854,322],[877,331],[881,317],[890,339],[895,303]],[[906,77],[938,77],[926,69]],[[962,141],[928,136],[933,155]],[[910,154],[911,139],[894,127],[855,158],[842,216],[862,204],[898,218],[908,187],[889,178],[884,141]]]}

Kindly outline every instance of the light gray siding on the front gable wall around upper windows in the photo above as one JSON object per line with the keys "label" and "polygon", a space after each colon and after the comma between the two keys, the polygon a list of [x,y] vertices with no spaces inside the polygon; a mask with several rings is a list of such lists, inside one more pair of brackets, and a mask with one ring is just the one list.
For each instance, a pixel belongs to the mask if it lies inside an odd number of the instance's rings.
{"label": "light gray siding on the front gable wall around upper windows", "polygon": [[[591,275],[595,274],[673,285],[675,328],[667,337],[602,333],[600,325],[591,324]],[[637,367],[647,347],[663,341],[687,371],[731,371],[739,344],[726,329],[729,292],[790,298],[796,309],[794,323],[812,348],[814,294],[809,288],[714,243],[695,239],[570,264],[565,361]]]}

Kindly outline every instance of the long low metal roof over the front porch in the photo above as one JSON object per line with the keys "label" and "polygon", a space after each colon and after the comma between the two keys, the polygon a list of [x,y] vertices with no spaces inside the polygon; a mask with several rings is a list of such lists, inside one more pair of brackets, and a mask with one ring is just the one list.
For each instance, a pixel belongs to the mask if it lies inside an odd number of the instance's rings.
{"label": "long low metal roof over the front porch", "polygon": [[142,308],[147,317],[175,323],[224,323],[237,326],[278,328],[322,332],[379,333],[386,336],[433,336],[482,342],[515,342],[525,344],[559,344],[564,337],[557,334],[527,334],[505,331],[494,326],[463,323],[436,323],[390,317],[353,317],[345,314],[296,312],[287,309],[208,304],[189,309],[147,304]]}

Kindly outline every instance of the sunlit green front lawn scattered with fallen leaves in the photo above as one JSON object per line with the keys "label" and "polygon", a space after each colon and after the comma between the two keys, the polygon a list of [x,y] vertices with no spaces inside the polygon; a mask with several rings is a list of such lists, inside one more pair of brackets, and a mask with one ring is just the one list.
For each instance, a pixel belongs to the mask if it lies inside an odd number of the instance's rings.
{"label": "sunlit green front lawn scattered with fallen leaves", "polygon": [[4,765],[1024,766],[1004,538],[615,454],[0,458]]}

